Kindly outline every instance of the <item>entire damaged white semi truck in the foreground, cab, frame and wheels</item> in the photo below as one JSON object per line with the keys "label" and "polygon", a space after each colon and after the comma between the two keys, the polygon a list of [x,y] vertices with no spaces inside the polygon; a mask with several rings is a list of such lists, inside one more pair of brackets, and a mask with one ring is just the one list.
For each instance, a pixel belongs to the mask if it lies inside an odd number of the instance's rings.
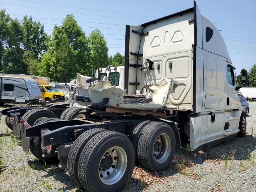
{"label": "entire damaged white semi truck in the foreground, cab, frame and wheels", "polygon": [[[87,191],[119,191],[134,164],[168,168],[175,147],[192,152],[246,132],[226,44],[194,7],[126,25],[124,90],[104,80],[83,92],[84,118],[24,120],[22,147],[39,159],[60,160]],[[242,83],[247,72],[242,72]]]}

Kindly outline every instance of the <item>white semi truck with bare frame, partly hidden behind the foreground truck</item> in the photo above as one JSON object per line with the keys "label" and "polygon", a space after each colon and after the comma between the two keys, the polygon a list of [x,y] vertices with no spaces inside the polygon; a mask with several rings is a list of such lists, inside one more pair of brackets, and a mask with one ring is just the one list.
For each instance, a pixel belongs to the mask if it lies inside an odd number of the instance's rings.
{"label": "white semi truck with bare frame, partly hidden behind the foreground truck", "polygon": [[[124,66],[107,66],[96,70],[93,77],[77,73],[76,84],[68,92],[65,102],[30,102],[26,105],[3,109],[0,112],[0,116],[6,115],[6,125],[14,131],[14,136],[17,137],[20,137],[21,118],[30,122],[31,125],[35,125],[45,118],[69,120],[76,117],[84,117],[83,114],[80,114],[80,111],[84,110],[85,106],[90,103],[86,99],[87,97],[83,96],[83,92],[92,84],[92,80],[98,81],[104,77],[110,80],[110,83],[117,88],[124,88]],[[30,110],[33,110],[33,112]]]}

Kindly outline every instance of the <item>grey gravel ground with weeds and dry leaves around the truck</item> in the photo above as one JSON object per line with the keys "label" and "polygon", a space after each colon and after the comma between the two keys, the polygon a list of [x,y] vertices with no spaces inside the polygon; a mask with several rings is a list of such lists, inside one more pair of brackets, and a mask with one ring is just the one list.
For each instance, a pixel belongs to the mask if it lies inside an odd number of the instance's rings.
{"label": "grey gravel ground with weeds and dry leaves around the truck", "polygon": [[[172,166],[152,173],[135,167],[128,191],[256,191],[256,102],[250,102],[244,138],[234,138],[191,155],[177,148]],[[82,191],[58,165],[42,164],[22,151],[0,122],[0,191]]]}

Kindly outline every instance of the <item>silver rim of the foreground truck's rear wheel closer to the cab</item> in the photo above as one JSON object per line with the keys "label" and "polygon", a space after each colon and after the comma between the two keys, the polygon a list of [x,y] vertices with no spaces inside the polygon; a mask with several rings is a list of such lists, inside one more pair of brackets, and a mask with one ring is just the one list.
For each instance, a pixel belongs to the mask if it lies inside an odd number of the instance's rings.
{"label": "silver rim of the foreground truck's rear wheel closer to the cab", "polygon": [[166,134],[160,134],[154,144],[154,158],[157,162],[162,163],[165,162],[171,152],[171,140],[170,137]]}

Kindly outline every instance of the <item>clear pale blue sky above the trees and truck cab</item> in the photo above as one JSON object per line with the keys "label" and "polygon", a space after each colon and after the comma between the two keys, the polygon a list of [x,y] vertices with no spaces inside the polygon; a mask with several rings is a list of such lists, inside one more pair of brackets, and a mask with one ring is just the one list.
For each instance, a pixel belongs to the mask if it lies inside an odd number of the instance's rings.
{"label": "clear pale blue sky above the trees and truck cab", "polygon": [[[196,2],[200,12],[222,30],[236,73],[256,64],[256,0]],[[72,13],[87,36],[95,28],[101,30],[109,55],[124,55],[125,24],[140,25],[191,7],[192,0],[0,0],[0,8],[13,18],[31,15],[44,23],[48,34],[54,24],[60,25],[66,14]]]}

